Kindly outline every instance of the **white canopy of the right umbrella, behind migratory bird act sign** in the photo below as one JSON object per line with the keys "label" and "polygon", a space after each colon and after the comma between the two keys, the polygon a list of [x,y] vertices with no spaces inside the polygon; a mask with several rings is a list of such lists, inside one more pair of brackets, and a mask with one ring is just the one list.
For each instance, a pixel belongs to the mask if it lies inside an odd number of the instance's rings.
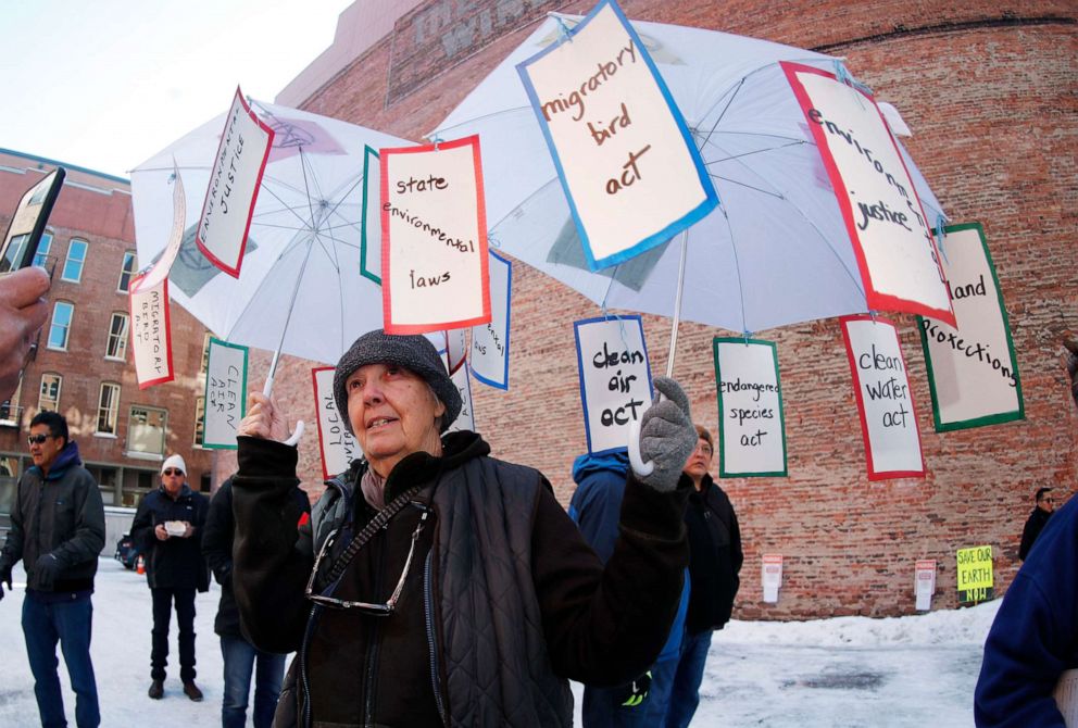
{"label": "white canopy of the right umbrella, behind migratory bird act sign", "polygon": [[[478,134],[491,244],[601,305],[676,315],[680,246],[587,269],[551,154],[516,71],[575,16],[547,20],[431,133]],[[634,22],[681,110],[719,205],[688,231],[680,315],[734,331],[865,312],[853,246],[779,61],[836,59],[713,30]],[[926,214],[939,202],[905,150]]]}

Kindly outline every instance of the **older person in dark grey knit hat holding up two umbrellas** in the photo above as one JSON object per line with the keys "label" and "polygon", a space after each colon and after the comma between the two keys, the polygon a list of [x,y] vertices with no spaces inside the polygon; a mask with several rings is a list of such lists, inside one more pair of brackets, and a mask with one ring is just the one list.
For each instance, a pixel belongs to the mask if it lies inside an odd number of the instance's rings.
{"label": "older person in dark grey knit hat holding up two umbrellas", "polygon": [[538,470],[447,432],[460,391],[422,336],[372,331],[341,356],[334,399],[365,459],[327,482],[301,527],[297,451],[280,411],[252,392],[233,576],[255,645],[300,653],[274,725],[568,728],[568,679],[643,674],[681,594],[681,467],[697,440],[681,388],[655,387],[665,400],[640,423],[651,466],[626,476],[605,566]]}

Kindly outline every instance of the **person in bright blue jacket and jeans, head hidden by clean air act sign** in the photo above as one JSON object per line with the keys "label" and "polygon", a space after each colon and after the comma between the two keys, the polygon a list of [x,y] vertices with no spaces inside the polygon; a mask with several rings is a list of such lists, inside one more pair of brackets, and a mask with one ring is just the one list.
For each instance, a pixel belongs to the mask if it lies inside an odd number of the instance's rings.
{"label": "person in bright blue jacket and jeans, head hidden by clean air act sign", "polygon": [[[603,563],[611,557],[617,540],[628,468],[629,459],[624,451],[580,455],[573,463],[573,479],[577,489],[569,502],[569,517],[576,522],[584,539]],[[677,616],[659,658],[648,674],[635,683],[618,688],[585,686],[581,706],[585,728],[662,725],[680,655],[688,603],[689,580],[686,573]]]}

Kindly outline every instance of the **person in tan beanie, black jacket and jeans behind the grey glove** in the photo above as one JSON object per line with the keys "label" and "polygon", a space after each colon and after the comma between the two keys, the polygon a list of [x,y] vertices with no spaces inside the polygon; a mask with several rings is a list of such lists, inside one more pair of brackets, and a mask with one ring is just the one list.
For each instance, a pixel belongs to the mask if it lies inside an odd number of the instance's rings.
{"label": "person in tan beanie, black jacket and jeans behind the grey glove", "polygon": [[668,728],[685,728],[697,712],[712,632],[730,620],[744,561],[734,505],[707,473],[715,441],[700,425],[697,436],[697,449],[685,464],[685,474],[694,486],[685,512],[689,532],[689,612],[666,712]]}

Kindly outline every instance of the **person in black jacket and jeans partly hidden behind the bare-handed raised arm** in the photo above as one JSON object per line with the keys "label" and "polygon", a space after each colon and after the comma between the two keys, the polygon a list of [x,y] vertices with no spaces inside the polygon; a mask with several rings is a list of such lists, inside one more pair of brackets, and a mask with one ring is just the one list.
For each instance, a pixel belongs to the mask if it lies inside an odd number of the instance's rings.
{"label": "person in black jacket and jeans partly hidden behind the bare-handed raised arm", "polygon": [[[300,506],[300,522],[310,519],[311,501],[299,488],[293,491]],[[202,553],[221,585],[221,603],[213,631],[221,637],[221,656],[225,666],[225,692],[221,703],[222,728],[247,725],[247,703],[254,670],[254,728],[270,728],[285,677],[285,654],[259,650],[247,641],[239,626],[239,608],[233,592],[233,481],[225,480],[210,500],[210,513],[202,534]],[[255,667],[255,664],[258,665]]]}

